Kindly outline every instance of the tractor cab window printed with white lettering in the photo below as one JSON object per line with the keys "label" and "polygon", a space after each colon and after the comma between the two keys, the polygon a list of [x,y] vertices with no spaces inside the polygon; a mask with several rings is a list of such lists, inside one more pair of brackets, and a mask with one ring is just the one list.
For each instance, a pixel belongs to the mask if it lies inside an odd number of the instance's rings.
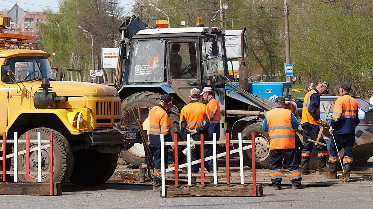
{"label": "tractor cab window printed with white lettering", "polygon": [[130,83],[163,82],[166,78],[164,42],[134,42],[131,55]]}

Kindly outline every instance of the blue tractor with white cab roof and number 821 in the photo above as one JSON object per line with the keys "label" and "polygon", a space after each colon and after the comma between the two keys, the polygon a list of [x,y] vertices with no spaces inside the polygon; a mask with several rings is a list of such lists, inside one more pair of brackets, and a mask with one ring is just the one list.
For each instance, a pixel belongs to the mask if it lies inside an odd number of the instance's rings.
{"label": "blue tractor with white cab roof and number 821", "polygon": [[[270,99],[291,95],[291,83],[248,83],[247,67],[242,65],[240,77],[230,74],[225,29],[204,27],[201,19],[193,28],[146,27],[135,16],[128,17],[120,26],[122,40],[116,86],[122,98],[124,123],[131,125],[135,118],[144,120],[148,109],[157,105],[162,94],[168,93],[175,105],[170,116],[172,132],[180,134],[179,111],[189,102],[189,90],[211,86],[221,108],[220,135],[225,137],[229,132],[232,139],[238,139],[238,133],[242,132],[246,139],[255,132],[256,165],[268,167],[269,136],[261,129],[264,112],[273,108]],[[141,145],[121,155],[133,166],[140,165],[145,157]],[[244,155],[245,163],[251,166],[251,150]]]}

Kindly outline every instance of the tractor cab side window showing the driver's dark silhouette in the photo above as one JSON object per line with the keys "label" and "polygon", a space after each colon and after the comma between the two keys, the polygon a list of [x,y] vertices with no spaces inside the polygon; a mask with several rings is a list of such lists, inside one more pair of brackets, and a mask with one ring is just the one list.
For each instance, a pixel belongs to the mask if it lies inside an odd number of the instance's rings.
{"label": "tractor cab side window showing the driver's dark silhouette", "polygon": [[170,43],[170,49],[172,79],[197,78],[196,43]]}

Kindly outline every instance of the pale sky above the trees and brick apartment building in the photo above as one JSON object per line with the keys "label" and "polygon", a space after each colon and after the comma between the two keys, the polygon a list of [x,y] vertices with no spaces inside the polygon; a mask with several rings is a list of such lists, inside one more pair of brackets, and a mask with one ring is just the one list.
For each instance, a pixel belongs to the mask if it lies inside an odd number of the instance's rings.
{"label": "pale sky above the trees and brick apartment building", "polygon": [[[58,12],[58,1],[59,0],[20,0],[17,1],[17,5],[28,12],[42,12],[43,9],[46,8],[53,10],[53,12]],[[118,0],[118,3],[120,6],[127,8],[134,4],[135,1],[136,0]],[[0,11],[10,10],[15,4],[16,1],[0,0]]]}

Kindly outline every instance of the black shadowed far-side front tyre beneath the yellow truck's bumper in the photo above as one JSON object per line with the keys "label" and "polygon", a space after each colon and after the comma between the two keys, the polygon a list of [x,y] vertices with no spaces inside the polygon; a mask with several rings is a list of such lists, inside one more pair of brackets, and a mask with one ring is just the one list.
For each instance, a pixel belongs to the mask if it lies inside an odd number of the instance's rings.
{"label": "black shadowed far-side front tyre beneath the yellow truck's bumper", "polygon": [[70,182],[77,185],[99,185],[113,175],[118,154],[100,153],[94,150],[79,149],[74,154],[74,168]]}

